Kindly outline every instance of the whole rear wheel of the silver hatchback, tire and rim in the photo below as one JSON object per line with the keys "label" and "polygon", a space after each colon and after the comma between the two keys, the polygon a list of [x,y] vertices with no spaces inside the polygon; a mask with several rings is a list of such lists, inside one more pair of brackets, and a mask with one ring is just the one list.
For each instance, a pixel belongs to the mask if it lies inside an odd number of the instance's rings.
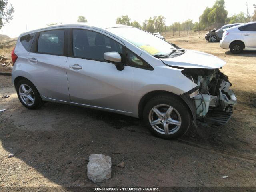
{"label": "whole rear wheel of the silver hatchback, tire and rim", "polygon": [[37,109],[42,106],[42,98],[34,84],[29,80],[20,80],[16,85],[16,91],[20,102],[26,108]]}

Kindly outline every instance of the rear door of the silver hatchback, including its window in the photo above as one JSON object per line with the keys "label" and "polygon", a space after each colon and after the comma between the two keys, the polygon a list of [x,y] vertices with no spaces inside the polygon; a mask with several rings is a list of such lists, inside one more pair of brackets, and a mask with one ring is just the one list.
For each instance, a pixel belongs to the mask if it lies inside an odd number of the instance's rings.
{"label": "rear door of the silver hatchback, including its window", "polygon": [[67,35],[68,28],[38,32],[28,55],[26,71],[46,98],[70,101],[66,74]]}

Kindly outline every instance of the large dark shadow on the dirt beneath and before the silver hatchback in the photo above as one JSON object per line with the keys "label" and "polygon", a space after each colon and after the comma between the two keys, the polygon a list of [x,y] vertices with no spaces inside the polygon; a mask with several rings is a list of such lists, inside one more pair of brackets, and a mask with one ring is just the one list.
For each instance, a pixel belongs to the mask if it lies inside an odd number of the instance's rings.
{"label": "large dark shadow on the dirt beneath and before the silver hatchback", "polygon": [[[16,115],[24,121],[16,121]],[[244,145],[248,144],[236,129],[243,122],[235,118],[219,127],[199,125],[179,140],[163,140],[152,136],[140,119],[51,102],[39,110],[27,110],[20,104],[16,112],[12,111],[10,118],[1,118],[0,123],[0,139],[4,149],[15,154],[16,158],[34,168],[44,178],[64,187],[168,186],[172,183],[164,178],[165,174],[175,173],[172,167],[177,168],[179,174],[186,171],[182,170],[180,162],[172,158],[188,161],[191,156],[203,158],[201,150],[205,149],[212,152],[242,152]],[[237,138],[244,143],[241,145]],[[192,150],[190,146],[197,150]],[[111,156],[114,165],[111,180],[98,184],[88,180],[86,165],[88,156],[94,153]],[[124,169],[115,166],[122,161],[126,163]],[[154,173],[159,170],[162,170],[163,178],[156,180]],[[148,171],[152,172],[154,179],[144,176]],[[191,177],[188,175],[189,180]],[[198,177],[201,178],[200,175]],[[120,178],[127,179],[122,181]],[[171,182],[174,181],[175,178]],[[30,184],[26,179],[22,182]],[[180,184],[186,186],[186,182]]]}

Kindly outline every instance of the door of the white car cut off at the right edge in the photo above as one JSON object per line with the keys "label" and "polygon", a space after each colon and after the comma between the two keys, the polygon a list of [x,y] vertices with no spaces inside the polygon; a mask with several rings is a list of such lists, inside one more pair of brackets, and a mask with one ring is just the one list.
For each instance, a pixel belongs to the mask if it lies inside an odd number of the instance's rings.
{"label": "door of the white car cut off at the right edge", "polygon": [[256,23],[248,24],[239,28],[242,31],[242,38],[248,49],[256,48]]}

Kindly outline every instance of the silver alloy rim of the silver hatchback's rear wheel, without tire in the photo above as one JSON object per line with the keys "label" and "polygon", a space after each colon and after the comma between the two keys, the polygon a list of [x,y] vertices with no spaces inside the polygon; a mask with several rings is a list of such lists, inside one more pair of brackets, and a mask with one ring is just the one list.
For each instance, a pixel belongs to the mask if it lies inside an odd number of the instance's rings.
{"label": "silver alloy rim of the silver hatchback's rear wheel, without tire", "polygon": [[19,87],[19,96],[24,104],[32,106],[35,102],[35,96],[32,88],[27,84],[21,84]]}

